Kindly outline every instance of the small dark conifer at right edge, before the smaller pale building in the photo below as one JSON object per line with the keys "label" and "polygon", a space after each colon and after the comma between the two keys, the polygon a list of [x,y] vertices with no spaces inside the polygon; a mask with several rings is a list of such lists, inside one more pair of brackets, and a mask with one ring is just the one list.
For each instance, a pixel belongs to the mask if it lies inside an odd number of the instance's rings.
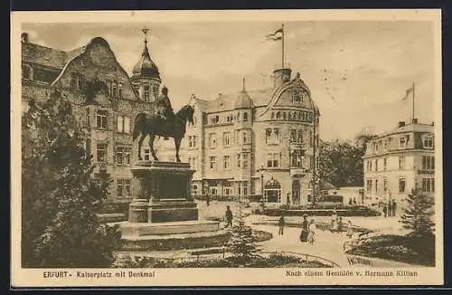
{"label": "small dark conifer at right edge, before the smaller pale building", "polygon": [[408,236],[413,238],[429,238],[434,235],[433,214],[435,200],[432,196],[422,194],[419,189],[413,189],[406,198],[407,206],[400,217],[403,228],[410,231]]}

